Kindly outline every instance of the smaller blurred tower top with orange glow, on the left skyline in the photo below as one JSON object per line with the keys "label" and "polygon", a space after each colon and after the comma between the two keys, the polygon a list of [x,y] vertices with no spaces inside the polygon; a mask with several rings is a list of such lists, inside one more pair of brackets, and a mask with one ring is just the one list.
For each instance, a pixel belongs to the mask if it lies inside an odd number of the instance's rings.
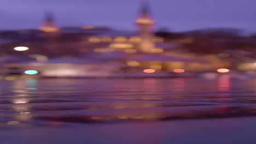
{"label": "smaller blurred tower top with orange glow, on the left skyline", "polygon": [[43,25],[39,28],[39,30],[46,33],[55,33],[60,31],[60,28],[55,26],[53,14],[45,14],[45,20],[43,22]]}

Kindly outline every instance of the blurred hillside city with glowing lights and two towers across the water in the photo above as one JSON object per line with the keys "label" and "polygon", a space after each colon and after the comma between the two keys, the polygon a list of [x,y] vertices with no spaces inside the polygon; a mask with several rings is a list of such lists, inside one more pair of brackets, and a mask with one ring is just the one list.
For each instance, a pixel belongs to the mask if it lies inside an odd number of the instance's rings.
{"label": "blurred hillside city with glowing lights and two towers across the water", "polygon": [[147,3],[137,31],[104,26],[58,27],[46,13],[38,29],[0,32],[0,69],[5,80],[26,77],[216,77],[256,76],[256,34],[212,28],[154,31]]}

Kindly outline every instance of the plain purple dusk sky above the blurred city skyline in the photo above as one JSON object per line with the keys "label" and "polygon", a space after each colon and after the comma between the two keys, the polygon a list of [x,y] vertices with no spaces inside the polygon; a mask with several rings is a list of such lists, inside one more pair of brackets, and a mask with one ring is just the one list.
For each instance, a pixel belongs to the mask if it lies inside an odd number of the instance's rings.
{"label": "plain purple dusk sky above the blurred city skyline", "polygon": [[[158,27],[171,31],[231,27],[256,32],[255,0],[151,0]],[[134,29],[139,0],[1,0],[0,29],[37,28],[52,10],[58,26]]]}

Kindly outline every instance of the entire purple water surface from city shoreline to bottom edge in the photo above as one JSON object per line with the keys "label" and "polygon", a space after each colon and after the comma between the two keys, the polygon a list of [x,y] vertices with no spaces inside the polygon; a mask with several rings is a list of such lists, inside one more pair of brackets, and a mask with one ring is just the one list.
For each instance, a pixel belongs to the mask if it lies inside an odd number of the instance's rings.
{"label": "entire purple water surface from city shoreline to bottom edge", "polygon": [[256,79],[1,81],[5,143],[256,143]]}

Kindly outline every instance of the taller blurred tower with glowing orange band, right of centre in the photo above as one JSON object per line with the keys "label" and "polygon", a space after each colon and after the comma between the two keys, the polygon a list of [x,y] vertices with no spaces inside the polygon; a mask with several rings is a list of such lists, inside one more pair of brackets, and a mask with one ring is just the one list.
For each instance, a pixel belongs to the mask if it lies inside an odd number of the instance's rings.
{"label": "taller blurred tower with glowing orange band, right of centre", "polygon": [[152,52],[152,49],[155,48],[154,34],[152,32],[155,21],[150,17],[148,2],[141,4],[141,11],[136,20],[136,25],[139,28],[139,37],[141,37],[141,41],[138,45],[139,51],[147,53]]}

